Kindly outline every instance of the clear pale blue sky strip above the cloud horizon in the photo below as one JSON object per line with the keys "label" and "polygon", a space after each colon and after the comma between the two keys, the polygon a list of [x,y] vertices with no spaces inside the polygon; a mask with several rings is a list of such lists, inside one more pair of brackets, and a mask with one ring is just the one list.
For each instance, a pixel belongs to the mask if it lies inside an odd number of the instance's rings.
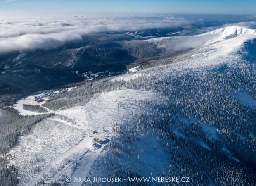
{"label": "clear pale blue sky strip above the cloud horizon", "polygon": [[0,0],[0,13],[256,14],[256,0]]}

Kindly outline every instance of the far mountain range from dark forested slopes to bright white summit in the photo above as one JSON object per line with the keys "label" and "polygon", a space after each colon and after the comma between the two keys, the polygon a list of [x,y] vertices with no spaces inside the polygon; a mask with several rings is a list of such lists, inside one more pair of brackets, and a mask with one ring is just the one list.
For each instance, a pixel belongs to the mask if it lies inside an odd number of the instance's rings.
{"label": "far mountain range from dark forested slopes to bright white summit", "polygon": [[[229,26],[195,36],[136,40],[138,33],[93,34],[83,43],[69,43],[58,50],[23,51],[0,56],[0,94],[22,93],[47,86],[81,81],[78,74],[106,70],[121,72],[133,64],[165,59],[208,46],[231,51],[256,36],[255,29]],[[228,40],[231,39],[232,40]],[[228,45],[223,45],[227,41]],[[232,45],[230,45],[232,42]],[[81,46],[83,45],[83,46]],[[203,48],[202,48],[203,47]],[[216,49],[217,50],[217,49]],[[78,71],[78,74],[72,73]],[[19,82],[19,83],[17,83]]]}

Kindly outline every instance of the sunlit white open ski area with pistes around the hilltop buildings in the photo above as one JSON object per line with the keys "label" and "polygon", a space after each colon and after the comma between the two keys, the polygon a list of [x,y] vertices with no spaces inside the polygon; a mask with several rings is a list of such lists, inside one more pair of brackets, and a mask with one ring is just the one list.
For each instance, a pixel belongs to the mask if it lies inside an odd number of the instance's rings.
{"label": "sunlit white open ski area with pistes around the hilltop buildings", "polygon": [[[37,103],[31,96],[19,100],[14,107],[20,114],[28,114],[19,110],[22,104]],[[21,171],[19,178],[23,181],[19,184],[33,186],[42,178],[50,183],[64,175],[72,179],[86,176],[102,148],[111,136],[118,133],[122,122],[128,120],[131,112],[136,114],[144,109],[139,107],[143,105],[142,100],[153,101],[157,96],[151,91],[116,90],[96,94],[84,107],[55,111],[53,117],[36,124],[28,135],[21,136],[10,150],[10,154],[16,155],[10,164]],[[102,142],[95,141],[95,138]],[[31,167],[40,171],[35,174]]]}

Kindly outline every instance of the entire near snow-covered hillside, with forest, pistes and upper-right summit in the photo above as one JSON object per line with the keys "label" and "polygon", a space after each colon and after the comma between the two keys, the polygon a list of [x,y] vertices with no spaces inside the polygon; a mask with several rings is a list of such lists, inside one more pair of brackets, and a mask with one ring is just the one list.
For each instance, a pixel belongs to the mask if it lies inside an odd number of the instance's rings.
{"label": "entire near snow-covered hillside, with forest, pistes and upper-right summit", "polygon": [[13,108],[24,117],[42,114],[24,104],[52,114],[8,151],[18,184],[189,176],[191,185],[253,185],[256,66],[247,45],[255,38],[255,29],[240,26],[153,38],[146,42],[165,48],[159,59],[18,100]]}

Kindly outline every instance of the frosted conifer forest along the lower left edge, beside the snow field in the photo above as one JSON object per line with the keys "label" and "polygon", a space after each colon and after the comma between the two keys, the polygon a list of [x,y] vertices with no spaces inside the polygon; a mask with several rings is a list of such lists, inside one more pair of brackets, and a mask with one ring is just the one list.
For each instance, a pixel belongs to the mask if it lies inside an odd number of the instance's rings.
{"label": "frosted conifer forest along the lower left edge, beside the snow field", "polygon": [[52,114],[22,116],[13,108],[0,109],[0,185],[15,185],[17,183],[17,169],[14,165],[7,165],[12,156],[8,150],[12,148],[20,135],[26,135],[29,129]]}

